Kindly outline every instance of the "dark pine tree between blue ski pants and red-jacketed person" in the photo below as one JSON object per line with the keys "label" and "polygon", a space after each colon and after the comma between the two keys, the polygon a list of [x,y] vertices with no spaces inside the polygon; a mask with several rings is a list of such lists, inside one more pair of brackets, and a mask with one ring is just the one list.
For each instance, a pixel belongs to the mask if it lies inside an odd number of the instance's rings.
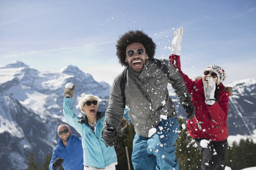
{"label": "dark pine tree between blue ski pants and red-jacketed person", "polygon": [[197,149],[195,140],[188,134],[187,129],[183,129],[185,124],[182,119],[178,119],[180,123],[180,133],[176,140],[175,145],[177,146],[175,154],[178,159],[178,164],[181,170],[183,169],[199,169],[201,166],[202,157]]}

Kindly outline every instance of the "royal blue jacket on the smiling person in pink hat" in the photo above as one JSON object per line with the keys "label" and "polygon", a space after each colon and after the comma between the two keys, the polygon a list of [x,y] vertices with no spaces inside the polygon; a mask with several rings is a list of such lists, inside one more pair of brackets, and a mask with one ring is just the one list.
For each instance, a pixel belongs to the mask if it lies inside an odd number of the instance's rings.
{"label": "royal blue jacket on the smiling person in pink hat", "polygon": [[83,148],[81,138],[76,135],[70,135],[66,147],[62,144],[61,138],[59,138],[58,144],[56,147],[54,147],[53,150],[53,156],[50,160],[49,170],[53,170],[53,163],[57,158],[64,159],[62,167],[65,170],[83,170]]}

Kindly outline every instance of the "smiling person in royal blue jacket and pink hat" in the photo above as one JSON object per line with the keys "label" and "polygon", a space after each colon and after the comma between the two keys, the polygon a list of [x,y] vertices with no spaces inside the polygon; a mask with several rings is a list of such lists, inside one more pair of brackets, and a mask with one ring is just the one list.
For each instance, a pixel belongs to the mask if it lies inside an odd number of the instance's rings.
{"label": "smiling person in royal blue jacket and pink hat", "polygon": [[53,149],[49,169],[58,169],[62,164],[62,167],[66,170],[82,170],[84,166],[81,138],[71,134],[70,126],[67,124],[59,125],[57,133],[60,138],[57,146]]}

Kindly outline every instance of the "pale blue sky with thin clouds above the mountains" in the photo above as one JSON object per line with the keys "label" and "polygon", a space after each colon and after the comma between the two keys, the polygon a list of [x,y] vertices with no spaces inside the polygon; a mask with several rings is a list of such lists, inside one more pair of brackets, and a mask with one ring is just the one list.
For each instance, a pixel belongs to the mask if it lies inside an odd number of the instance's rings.
{"label": "pale blue sky with thin clouds above the mountains", "polygon": [[118,38],[142,30],[170,55],[173,31],[184,29],[181,64],[194,79],[210,64],[224,84],[256,78],[256,1],[0,0],[0,65],[16,60],[40,71],[78,66],[110,85],[123,69]]}

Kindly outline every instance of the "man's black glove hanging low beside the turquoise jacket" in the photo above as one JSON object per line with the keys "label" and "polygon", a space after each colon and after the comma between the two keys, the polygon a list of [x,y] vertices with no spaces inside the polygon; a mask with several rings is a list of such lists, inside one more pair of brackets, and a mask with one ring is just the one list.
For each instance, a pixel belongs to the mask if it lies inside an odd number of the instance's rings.
{"label": "man's black glove hanging low beside the turquoise jacket", "polygon": [[107,125],[102,131],[101,136],[105,140],[107,146],[114,146],[113,143],[117,141],[117,130],[113,126]]}

